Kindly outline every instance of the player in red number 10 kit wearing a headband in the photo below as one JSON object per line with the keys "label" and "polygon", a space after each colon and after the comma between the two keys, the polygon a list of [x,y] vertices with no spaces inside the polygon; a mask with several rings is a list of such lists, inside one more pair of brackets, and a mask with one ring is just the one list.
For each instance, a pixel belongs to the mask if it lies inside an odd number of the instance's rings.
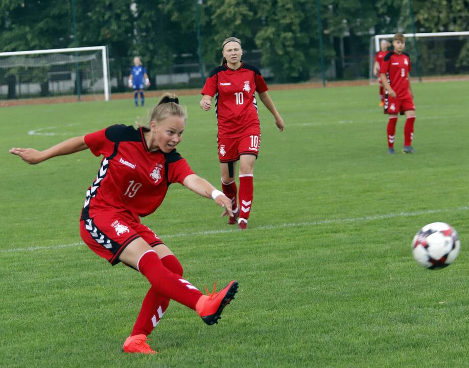
{"label": "player in red number 10 kit wearing a headband", "polygon": [[[275,119],[279,131],[284,130],[284,120],[275,108],[268,87],[259,69],[242,62],[241,40],[229,37],[222,43],[222,64],[206,79],[202,89],[200,107],[208,111],[215,97],[218,121],[218,157],[220,160],[223,193],[231,199],[234,216],[229,224],[247,228],[253,199],[254,162],[261,145],[261,128],[255,91]],[[239,160],[239,202],[237,203],[234,170]],[[222,214],[228,215],[228,212]],[[238,221],[237,221],[238,218]]]}

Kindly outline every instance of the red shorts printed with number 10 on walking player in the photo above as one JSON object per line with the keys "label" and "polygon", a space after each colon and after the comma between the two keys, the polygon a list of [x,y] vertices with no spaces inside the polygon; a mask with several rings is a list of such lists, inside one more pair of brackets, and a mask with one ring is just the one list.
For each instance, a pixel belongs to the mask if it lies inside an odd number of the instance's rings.
{"label": "red shorts printed with number 10 on walking player", "polygon": [[218,137],[218,158],[220,162],[237,161],[242,154],[257,157],[261,148],[261,134],[245,135],[239,138]]}

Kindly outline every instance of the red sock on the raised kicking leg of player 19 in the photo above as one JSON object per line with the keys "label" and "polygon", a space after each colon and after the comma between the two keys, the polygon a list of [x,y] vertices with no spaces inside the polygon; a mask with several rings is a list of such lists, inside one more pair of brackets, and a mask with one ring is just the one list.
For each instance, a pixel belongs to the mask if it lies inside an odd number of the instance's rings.
{"label": "red sock on the raised kicking leg of player 19", "polygon": [[154,250],[145,252],[137,262],[137,267],[157,293],[195,310],[202,293],[189,281],[163,266]]}

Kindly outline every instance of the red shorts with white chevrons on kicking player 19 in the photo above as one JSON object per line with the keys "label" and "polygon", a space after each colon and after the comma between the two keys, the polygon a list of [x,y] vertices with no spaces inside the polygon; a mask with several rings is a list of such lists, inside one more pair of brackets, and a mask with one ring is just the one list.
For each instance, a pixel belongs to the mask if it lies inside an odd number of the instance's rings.
{"label": "red shorts with white chevrons on kicking player 19", "polygon": [[80,221],[80,235],[85,244],[98,256],[118,264],[127,245],[142,238],[150,246],[164,244],[147,226],[122,213],[107,213]]}

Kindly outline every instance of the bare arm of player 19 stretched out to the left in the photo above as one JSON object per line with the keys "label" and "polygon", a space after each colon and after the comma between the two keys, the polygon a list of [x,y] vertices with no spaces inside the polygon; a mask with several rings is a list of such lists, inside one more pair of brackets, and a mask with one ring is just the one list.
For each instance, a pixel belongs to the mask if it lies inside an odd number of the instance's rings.
{"label": "bare arm of player 19 stretched out to the left", "polygon": [[35,165],[55,156],[63,156],[87,149],[88,146],[84,137],[83,135],[68,139],[43,151],[34,148],[12,148],[10,153],[21,157],[24,162],[30,165]]}

